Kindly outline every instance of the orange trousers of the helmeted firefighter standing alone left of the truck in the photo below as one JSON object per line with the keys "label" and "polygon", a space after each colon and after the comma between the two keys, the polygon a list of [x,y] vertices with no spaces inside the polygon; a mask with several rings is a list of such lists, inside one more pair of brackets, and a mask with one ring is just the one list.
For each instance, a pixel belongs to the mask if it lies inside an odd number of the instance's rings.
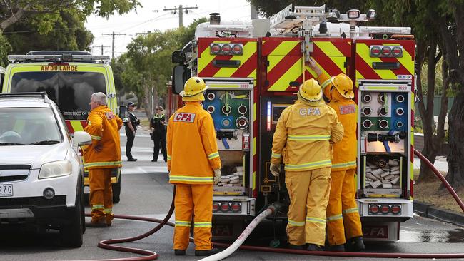
{"label": "orange trousers of the helmeted firefighter standing alone left of the truck", "polygon": [[174,249],[186,250],[193,220],[195,250],[211,250],[211,219],[213,218],[213,185],[176,184],[176,227]]}

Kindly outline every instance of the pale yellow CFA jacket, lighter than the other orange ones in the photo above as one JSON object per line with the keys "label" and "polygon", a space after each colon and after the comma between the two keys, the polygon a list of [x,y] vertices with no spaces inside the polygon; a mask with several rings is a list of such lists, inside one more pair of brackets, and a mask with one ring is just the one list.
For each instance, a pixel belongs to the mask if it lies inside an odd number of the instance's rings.
{"label": "pale yellow CFA jacket, lighter than the other orange ones", "polygon": [[343,126],[333,108],[322,100],[295,104],[283,110],[273,136],[271,163],[286,171],[331,167],[331,144],[343,137]]}

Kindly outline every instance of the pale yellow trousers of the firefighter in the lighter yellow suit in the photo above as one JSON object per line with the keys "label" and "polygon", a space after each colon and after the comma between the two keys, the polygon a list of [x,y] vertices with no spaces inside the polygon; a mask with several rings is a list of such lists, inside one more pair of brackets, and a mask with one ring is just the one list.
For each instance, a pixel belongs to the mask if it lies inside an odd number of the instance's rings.
{"label": "pale yellow trousers of the firefighter in the lighter yellow suit", "polygon": [[324,245],[326,208],[331,191],[331,168],[287,171],[285,175],[290,195],[288,242],[291,245]]}

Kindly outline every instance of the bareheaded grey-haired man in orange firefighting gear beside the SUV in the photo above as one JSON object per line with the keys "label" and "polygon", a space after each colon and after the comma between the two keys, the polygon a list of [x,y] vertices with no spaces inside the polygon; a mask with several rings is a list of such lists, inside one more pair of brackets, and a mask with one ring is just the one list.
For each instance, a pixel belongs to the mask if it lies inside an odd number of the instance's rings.
{"label": "bareheaded grey-haired man in orange firefighting gear beside the SUV", "polygon": [[111,170],[121,167],[119,129],[123,121],[106,106],[105,93],[93,93],[90,108],[85,131],[91,135],[92,143],[84,150],[92,217],[88,226],[106,227],[114,218]]}

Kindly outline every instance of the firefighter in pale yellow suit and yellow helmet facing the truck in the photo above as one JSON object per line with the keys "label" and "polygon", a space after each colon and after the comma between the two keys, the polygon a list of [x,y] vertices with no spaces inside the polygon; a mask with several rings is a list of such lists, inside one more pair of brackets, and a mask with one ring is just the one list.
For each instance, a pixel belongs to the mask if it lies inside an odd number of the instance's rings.
{"label": "firefighter in pale yellow suit and yellow helmet facing the truck", "polygon": [[320,251],[326,238],[326,207],[331,189],[331,143],[343,137],[333,108],[324,103],[316,80],[305,81],[298,101],[283,110],[273,136],[271,173],[285,164],[290,195],[287,234],[291,248]]}

